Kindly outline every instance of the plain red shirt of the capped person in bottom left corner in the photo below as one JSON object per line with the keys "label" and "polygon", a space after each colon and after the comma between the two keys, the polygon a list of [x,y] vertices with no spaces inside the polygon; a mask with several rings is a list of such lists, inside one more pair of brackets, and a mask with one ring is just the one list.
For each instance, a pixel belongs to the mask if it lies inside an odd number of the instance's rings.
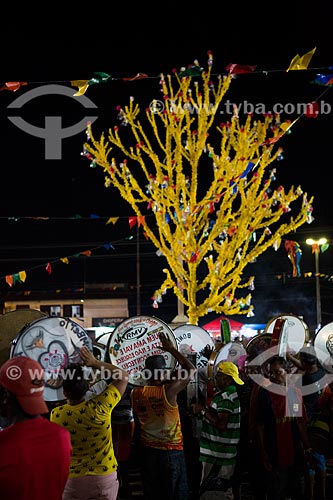
{"label": "plain red shirt of the capped person in bottom left corner", "polygon": [[1,500],[61,500],[71,453],[69,432],[44,417],[0,431]]}

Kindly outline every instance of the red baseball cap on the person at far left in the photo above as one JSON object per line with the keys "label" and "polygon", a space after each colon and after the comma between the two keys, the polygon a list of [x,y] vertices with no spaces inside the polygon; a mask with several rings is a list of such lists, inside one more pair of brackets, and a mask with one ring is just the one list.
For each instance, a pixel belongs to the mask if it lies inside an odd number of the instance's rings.
{"label": "red baseball cap on the person at far left", "polygon": [[44,400],[44,370],[35,360],[17,356],[0,367],[0,385],[12,392],[28,415],[48,413]]}

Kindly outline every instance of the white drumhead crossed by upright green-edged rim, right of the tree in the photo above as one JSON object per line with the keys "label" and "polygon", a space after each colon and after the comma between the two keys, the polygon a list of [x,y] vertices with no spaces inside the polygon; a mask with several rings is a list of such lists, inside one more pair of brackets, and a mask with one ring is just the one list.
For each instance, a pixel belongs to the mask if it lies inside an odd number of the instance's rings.
{"label": "white drumhead crossed by upright green-edged rim, right of the tree", "polygon": [[290,349],[293,353],[298,353],[309,340],[309,329],[306,323],[293,314],[282,314],[272,318],[267,323],[265,333],[275,334],[277,322],[281,322],[281,329],[279,329],[277,339],[278,355],[285,357],[287,349]]}

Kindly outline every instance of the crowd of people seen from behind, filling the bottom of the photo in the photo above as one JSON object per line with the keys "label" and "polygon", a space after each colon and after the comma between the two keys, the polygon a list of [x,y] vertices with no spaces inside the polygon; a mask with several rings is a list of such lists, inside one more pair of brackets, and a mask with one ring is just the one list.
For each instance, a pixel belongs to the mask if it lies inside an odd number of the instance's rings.
{"label": "crowd of people seen from behind, filling the bottom of the photo", "polygon": [[[20,356],[0,367],[3,500],[131,498],[133,453],[144,500],[227,492],[240,500],[245,482],[254,500],[327,498],[333,382],[313,347],[285,356],[251,352],[220,361],[209,376],[163,333],[160,340],[176,368],[149,356],[140,386],[82,347],[81,362],[67,367],[66,399],[52,408],[39,363]],[[189,402],[190,381],[198,391]]]}

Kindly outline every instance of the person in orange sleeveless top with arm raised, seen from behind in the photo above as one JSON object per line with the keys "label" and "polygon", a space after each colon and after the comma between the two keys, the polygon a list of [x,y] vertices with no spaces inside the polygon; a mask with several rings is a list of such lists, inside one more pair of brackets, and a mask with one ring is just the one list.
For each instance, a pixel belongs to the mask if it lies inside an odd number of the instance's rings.
{"label": "person in orange sleeveless top with arm raised, seen from behind", "polygon": [[163,354],[145,359],[147,385],[134,387],[131,402],[138,425],[142,486],[145,500],[188,500],[189,485],[178,395],[193,379],[196,368],[163,332],[164,353],[179,368],[170,372]]}

